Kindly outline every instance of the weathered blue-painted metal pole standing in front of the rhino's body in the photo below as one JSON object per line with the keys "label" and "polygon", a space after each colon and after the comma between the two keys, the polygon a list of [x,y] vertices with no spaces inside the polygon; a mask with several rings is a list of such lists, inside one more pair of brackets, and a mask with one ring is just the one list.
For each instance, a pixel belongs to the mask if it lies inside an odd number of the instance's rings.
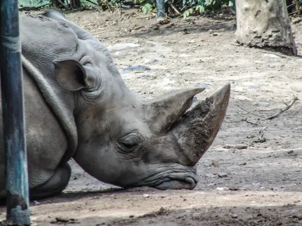
{"label": "weathered blue-painted metal pole standing in front of the rhino's body", "polygon": [[18,0],[0,0],[0,74],[7,223],[30,225]]}

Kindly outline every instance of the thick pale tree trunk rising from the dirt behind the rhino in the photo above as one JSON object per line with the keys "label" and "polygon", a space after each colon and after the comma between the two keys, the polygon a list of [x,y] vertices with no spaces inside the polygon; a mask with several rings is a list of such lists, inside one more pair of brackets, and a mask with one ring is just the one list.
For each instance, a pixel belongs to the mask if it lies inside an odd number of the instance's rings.
{"label": "thick pale tree trunk rising from the dirt behind the rhino", "polygon": [[236,1],[240,44],[297,55],[285,0]]}

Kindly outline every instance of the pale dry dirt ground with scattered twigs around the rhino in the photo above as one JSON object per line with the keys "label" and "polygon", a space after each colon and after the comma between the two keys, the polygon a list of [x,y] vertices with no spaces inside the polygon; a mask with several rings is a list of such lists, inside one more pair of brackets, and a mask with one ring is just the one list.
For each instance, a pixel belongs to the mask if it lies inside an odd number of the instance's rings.
{"label": "pale dry dirt ground with scattered twigs around the rhino", "polygon": [[[302,225],[302,102],[265,119],[293,95],[302,95],[302,58],[238,46],[230,14],[160,25],[136,13],[85,11],[66,17],[110,49],[127,85],[144,97],[204,86],[196,95],[201,100],[231,83],[224,123],[198,163],[199,183],[191,191],[122,190],[71,161],[64,193],[31,202],[33,225]],[[292,24],[299,53],[301,28],[302,23]],[[134,65],[149,70],[131,71]],[[257,143],[265,127],[265,141]],[[238,144],[248,148],[223,148]],[[0,207],[0,219],[5,211]]]}

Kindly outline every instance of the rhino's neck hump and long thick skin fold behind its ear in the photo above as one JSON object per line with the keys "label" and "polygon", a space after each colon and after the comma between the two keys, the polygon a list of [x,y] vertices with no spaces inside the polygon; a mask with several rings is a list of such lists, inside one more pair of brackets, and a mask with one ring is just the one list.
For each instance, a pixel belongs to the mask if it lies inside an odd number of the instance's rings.
{"label": "rhino's neck hump and long thick skin fold behind its ear", "polygon": [[72,93],[63,89],[54,78],[54,60],[81,59],[85,55],[79,47],[77,35],[64,23],[41,15],[20,15],[22,64],[36,82],[42,96],[60,122],[68,139],[64,161],[77,148]]}

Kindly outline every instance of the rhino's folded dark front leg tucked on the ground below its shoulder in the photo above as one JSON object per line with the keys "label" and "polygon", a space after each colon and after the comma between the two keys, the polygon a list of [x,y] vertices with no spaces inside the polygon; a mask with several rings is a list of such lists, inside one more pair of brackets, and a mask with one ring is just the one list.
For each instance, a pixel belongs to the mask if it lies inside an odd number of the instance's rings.
{"label": "rhino's folded dark front leg tucked on the ground below its shoulder", "polygon": [[29,190],[30,200],[46,198],[60,193],[67,187],[70,174],[71,168],[68,163],[59,165],[49,180]]}

